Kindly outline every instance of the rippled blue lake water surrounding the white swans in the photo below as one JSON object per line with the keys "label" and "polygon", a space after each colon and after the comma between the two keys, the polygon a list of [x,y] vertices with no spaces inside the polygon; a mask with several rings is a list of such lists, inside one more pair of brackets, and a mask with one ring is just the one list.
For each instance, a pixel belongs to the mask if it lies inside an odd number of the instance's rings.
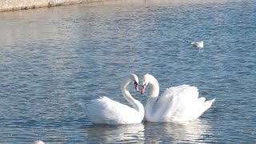
{"label": "rippled blue lake water surrounding the white swans", "polygon": [[[0,13],[0,143],[255,143],[256,2],[114,1]],[[204,41],[203,49],[190,42]],[[122,78],[216,98],[186,124],[94,125]],[[130,90],[143,104],[147,95]]]}

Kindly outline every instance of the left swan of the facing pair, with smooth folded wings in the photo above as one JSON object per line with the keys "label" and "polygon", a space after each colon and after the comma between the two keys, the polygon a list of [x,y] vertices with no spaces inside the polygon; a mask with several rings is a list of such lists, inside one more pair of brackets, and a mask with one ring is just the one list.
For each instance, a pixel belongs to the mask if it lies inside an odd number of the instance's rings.
{"label": "left swan of the facing pair, with smooth folded wings", "polygon": [[138,76],[136,74],[130,74],[123,80],[121,85],[123,97],[126,98],[126,101],[133,108],[103,96],[102,98],[92,100],[86,106],[90,120],[94,123],[109,125],[142,122],[144,118],[144,106],[130,95],[128,90],[130,82],[134,82],[135,90],[138,91]]}

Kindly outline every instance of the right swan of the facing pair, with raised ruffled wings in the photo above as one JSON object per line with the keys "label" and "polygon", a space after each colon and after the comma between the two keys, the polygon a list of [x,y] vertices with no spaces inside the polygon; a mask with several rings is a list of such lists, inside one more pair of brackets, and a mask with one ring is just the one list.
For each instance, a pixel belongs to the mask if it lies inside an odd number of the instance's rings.
{"label": "right swan of the facing pair, with raised ruffled wings", "polygon": [[144,94],[148,84],[151,88],[145,106],[145,118],[149,122],[190,121],[209,109],[215,100],[198,98],[197,87],[189,85],[170,87],[158,98],[158,81],[151,74],[143,76],[141,94]]}

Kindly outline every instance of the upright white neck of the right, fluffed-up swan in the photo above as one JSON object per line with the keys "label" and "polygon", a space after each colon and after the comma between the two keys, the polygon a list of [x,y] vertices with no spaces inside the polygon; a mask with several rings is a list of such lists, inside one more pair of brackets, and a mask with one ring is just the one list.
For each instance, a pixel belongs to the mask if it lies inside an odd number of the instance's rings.
{"label": "upright white neck of the right, fluffed-up swan", "polygon": [[150,85],[151,90],[150,90],[150,98],[147,99],[146,106],[145,106],[145,109],[146,109],[145,117],[146,117],[146,119],[153,118],[154,103],[157,101],[158,94],[159,94],[159,84],[158,84],[158,80],[156,78],[151,76],[150,81],[149,81],[149,85]]}

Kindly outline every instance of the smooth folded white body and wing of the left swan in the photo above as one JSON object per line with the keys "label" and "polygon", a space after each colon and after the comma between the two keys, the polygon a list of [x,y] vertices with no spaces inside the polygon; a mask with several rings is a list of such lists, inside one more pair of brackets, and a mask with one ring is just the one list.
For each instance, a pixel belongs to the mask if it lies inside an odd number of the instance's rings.
{"label": "smooth folded white body and wing of the left swan", "polygon": [[130,106],[111,100],[107,97],[92,100],[86,106],[87,114],[94,123],[128,124],[135,122],[138,111]]}

